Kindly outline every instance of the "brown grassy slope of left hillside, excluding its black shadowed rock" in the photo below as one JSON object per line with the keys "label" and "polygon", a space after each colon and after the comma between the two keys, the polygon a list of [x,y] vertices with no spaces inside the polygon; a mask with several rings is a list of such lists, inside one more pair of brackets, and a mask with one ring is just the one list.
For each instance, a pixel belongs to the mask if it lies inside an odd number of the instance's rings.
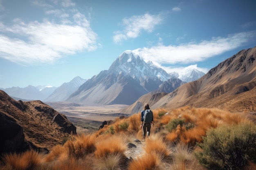
{"label": "brown grassy slope of left hillside, excluding its black shadowed rock", "polygon": [[[50,106],[41,101],[16,101],[4,91],[0,91],[0,114],[2,115],[0,121],[4,124],[10,121],[19,124],[23,128],[25,141],[39,150],[40,148],[49,150],[56,144],[63,144],[71,132],[76,133],[76,127],[65,115],[58,113]],[[13,142],[14,139],[8,139],[8,134],[14,135],[11,128],[12,126],[8,129],[10,132],[3,133],[7,135],[1,136],[2,143]],[[2,141],[4,139],[6,141]]]}

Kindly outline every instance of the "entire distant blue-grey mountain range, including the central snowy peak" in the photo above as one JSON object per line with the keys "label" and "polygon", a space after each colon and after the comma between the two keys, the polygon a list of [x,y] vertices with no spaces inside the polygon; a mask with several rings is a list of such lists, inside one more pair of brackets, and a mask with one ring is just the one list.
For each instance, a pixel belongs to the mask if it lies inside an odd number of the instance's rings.
{"label": "entire distant blue-grey mountain range, including the central snowy peak", "polygon": [[88,81],[78,76],[58,88],[27,86],[0,89],[14,99],[22,101],[130,105],[146,93],[153,91],[170,93],[181,84],[199,79],[202,75],[204,73],[196,69],[182,73],[166,73],[152,62],[146,63],[131,51],[124,51],[108,70],[101,71]]}

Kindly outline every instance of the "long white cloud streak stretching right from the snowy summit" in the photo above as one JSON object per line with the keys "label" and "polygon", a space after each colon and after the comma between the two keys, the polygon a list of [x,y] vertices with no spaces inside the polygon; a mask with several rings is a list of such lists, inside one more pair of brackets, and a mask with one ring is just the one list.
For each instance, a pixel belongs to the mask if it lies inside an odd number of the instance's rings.
{"label": "long white cloud streak stretching right from the snowy summit", "polygon": [[151,48],[139,48],[132,52],[143,57],[144,60],[152,61],[159,66],[162,64],[193,64],[201,62],[215,55],[236,49],[255,37],[255,32],[243,32],[216,37],[201,42],[190,42],[178,46],[152,46]]}

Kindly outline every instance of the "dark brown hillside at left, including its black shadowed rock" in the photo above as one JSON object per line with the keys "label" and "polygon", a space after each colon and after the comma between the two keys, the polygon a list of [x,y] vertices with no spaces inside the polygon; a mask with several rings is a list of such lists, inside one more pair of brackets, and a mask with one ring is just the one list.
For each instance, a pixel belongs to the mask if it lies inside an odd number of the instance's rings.
{"label": "dark brown hillside at left, including its black shadowed rock", "polygon": [[22,102],[0,90],[0,155],[33,148],[48,152],[63,144],[76,127],[43,102]]}

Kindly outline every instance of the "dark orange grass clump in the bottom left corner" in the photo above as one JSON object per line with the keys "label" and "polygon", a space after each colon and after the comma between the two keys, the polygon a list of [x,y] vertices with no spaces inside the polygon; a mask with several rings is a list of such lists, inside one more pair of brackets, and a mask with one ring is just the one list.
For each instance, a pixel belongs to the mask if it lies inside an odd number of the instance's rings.
{"label": "dark orange grass clump in the bottom left corner", "polygon": [[21,154],[13,153],[4,155],[4,163],[9,164],[14,170],[35,170],[42,163],[43,155],[33,150]]}

